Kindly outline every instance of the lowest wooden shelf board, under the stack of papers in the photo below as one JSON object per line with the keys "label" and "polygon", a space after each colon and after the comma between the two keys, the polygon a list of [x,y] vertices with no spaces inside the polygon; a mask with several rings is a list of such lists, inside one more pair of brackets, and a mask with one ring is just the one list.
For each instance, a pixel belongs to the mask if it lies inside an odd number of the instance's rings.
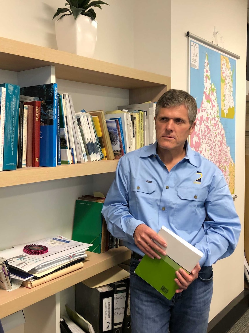
{"label": "lowest wooden shelf board, under the stack of papers", "polygon": [[116,266],[128,260],[131,256],[131,251],[125,246],[111,249],[101,254],[89,251],[86,252],[88,258],[84,260],[84,267],[75,272],[58,277],[57,279],[31,289],[20,287],[10,292],[0,289],[0,318],[24,309],[46,297]]}

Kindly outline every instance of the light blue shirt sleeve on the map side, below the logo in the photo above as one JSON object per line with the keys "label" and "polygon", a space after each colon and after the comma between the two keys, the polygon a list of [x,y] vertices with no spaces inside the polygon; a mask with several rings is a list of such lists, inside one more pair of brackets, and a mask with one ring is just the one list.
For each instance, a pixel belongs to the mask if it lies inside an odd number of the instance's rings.
{"label": "light blue shirt sleeve on the map side, below the logo", "polygon": [[241,231],[239,217],[222,174],[213,176],[205,205],[205,236],[195,247],[204,253],[200,265],[210,266],[233,253]]}

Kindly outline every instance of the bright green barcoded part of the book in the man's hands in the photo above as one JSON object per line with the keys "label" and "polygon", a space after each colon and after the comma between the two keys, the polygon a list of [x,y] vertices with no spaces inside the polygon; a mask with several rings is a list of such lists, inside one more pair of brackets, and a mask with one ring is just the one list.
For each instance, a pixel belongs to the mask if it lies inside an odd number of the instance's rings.
{"label": "bright green barcoded part of the book in the man's hands", "polygon": [[[182,267],[167,255],[163,256],[160,253],[158,254],[161,256],[160,260],[156,258],[151,259],[145,254],[135,269],[135,273],[163,296],[171,300],[176,289],[179,289],[179,286],[174,280],[177,278],[176,271]],[[186,272],[189,274],[188,271]]]}

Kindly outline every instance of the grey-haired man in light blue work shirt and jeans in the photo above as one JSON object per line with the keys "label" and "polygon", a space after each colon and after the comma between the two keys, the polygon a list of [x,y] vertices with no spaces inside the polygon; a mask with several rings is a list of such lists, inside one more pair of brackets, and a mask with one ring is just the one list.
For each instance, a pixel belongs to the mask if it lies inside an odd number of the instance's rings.
{"label": "grey-haired man in light blue work shirt and jeans", "polygon": [[[132,250],[132,333],[206,333],[212,297],[212,264],[235,249],[241,226],[222,172],[192,151],[197,105],[187,92],[169,90],[156,105],[157,141],[123,156],[102,213],[109,231]],[[203,252],[169,301],[134,270],[144,254],[165,255],[157,235],[164,225]]]}

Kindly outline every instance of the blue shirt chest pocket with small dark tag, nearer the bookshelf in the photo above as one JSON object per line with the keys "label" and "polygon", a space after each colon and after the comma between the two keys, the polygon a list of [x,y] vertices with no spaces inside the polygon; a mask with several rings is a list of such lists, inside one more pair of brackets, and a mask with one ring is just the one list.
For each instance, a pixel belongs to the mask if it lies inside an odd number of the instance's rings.
{"label": "blue shirt chest pocket with small dark tag, nearer the bookshelf", "polygon": [[132,178],[130,185],[132,199],[136,200],[137,205],[152,205],[156,183]]}

